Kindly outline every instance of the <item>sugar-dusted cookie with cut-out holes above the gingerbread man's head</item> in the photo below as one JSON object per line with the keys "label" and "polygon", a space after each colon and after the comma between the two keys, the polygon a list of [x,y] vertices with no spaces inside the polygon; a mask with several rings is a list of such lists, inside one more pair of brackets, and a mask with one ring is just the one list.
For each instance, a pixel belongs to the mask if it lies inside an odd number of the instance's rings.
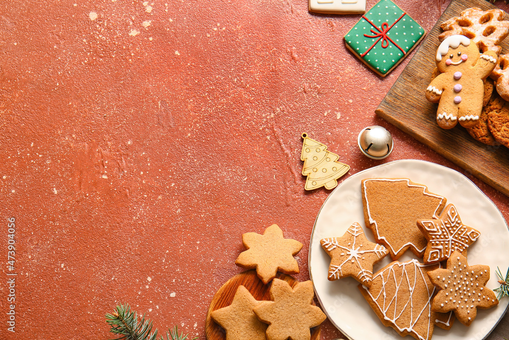
{"label": "sugar-dusted cookie with cut-out holes above the gingerbread man's head", "polygon": [[469,8],[460,16],[450,18],[440,24],[442,32],[440,41],[453,35],[464,35],[473,40],[477,47],[486,53],[494,51],[500,54],[500,43],[509,34],[509,21],[504,20],[505,12],[499,9],[483,11],[480,8]]}

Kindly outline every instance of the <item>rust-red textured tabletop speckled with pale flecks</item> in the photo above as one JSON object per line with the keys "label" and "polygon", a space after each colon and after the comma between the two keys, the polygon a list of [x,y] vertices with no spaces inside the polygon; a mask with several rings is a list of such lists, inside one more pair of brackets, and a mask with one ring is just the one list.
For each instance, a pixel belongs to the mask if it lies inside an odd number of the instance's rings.
{"label": "rust-red textured tabletop speckled with pale flecks", "polygon": [[[396,2],[427,31],[448,3]],[[375,116],[409,59],[385,79],[363,66],[343,41],[359,17],[306,0],[2,2],[0,240],[15,216],[18,276],[13,334],[2,266],[0,339],[111,338],[120,302],[204,339],[242,233],[273,223],[304,244],[308,279],[330,191],[304,191],[302,132],[351,165],[345,178],[399,159],[463,172]],[[384,161],[356,145],[373,124],[394,138]],[[509,199],[471,179],[507,218]]]}

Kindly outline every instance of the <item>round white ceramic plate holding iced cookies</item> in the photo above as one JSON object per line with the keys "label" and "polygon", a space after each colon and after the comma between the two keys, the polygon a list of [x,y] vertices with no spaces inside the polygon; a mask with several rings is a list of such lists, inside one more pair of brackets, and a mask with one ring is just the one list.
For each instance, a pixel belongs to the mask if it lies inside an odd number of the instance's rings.
{"label": "round white ceramic plate holding iced cookies", "polygon": [[[347,277],[329,281],[327,273],[330,257],[320,246],[320,240],[342,236],[353,222],[359,222],[367,239],[374,242],[373,233],[364,224],[360,182],[365,178],[404,177],[426,185],[429,191],[447,198],[453,203],[464,224],[480,231],[479,239],[468,251],[469,265],[489,265],[490,280],[487,287],[495,289],[497,266],[503,274],[509,266],[509,229],[493,202],[461,173],[430,162],[402,160],[386,163],[356,173],[343,181],[325,200],[318,213],[309,244],[309,274],[315,292],[329,320],[348,338],[401,339],[391,327],[382,325],[375,312],[360,294],[358,282]],[[407,251],[400,261],[416,258]],[[391,262],[387,255],[375,265],[374,272]],[[504,315],[508,298],[490,309],[477,309],[477,317],[467,327],[458,320],[449,331],[435,327],[433,339],[481,340],[496,326]]]}

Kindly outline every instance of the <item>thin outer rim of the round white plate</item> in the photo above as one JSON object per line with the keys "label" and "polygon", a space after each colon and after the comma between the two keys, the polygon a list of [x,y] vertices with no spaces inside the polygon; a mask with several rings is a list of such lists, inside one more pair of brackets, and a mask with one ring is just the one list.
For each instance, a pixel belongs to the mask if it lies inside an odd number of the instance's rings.
{"label": "thin outer rim of the round white plate", "polygon": [[[444,165],[441,165],[441,164],[437,164],[437,163],[434,163],[434,162],[429,162],[429,161],[425,161],[425,160],[417,160],[417,159],[403,159],[403,160],[395,160],[395,161],[391,161],[391,162],[387,162],[387,163],[384,163],[384,164],[380,164],[380,165],[377,165],[377,166],[374,166],[374,167],[371,167],[371,168],[367,168],[367,169],[364,169],[364,170],[361,170],[359,172],[356,172],[354,174],[352,174],[351,176],[349,176],[348,178],[345,178],[345,180],[343,180],[340,184],[337,185],[336,188],[334,188],[334,190],[332,190],[332,192],[327,196],[327,198],[323,201],[322,203],[322,206],[320,207],[320,210],[318,211],[318,214],[317,214],[317,217],[315,218],[315,222],[313,224],[313,230],[311,231],[311,236],[309,238],[309,251],[308,251],[308,257],[307,257],[307,263],[308,263],[308,271],[309,271],[309,279],[313,282],[313,290],[315,291],[315,296],[318,300],[318,302],[320,303],[320,307],[322,307],[322,310],[325,312],[325,315],[327,316],[327,319],[330,321],[330,323],[336,327],[338,330],[340,330],[340,332],[346,336],[349,340],[355,340],[354,338],[350,337],[341,327],[339,327],[333,320],[332,318],[329,316],[329,313],[327,311],[327,309],[323,306],[323,303],[322,303],[322,300],[320,299],[320,296],[318,295],[317,293],[317,290],[316,290],[316,286],[315,286],[315,280],[313,279],[313,273],[311,272],[311,254],[312,254],[312,248],[313,248],[313,238],[315,236],[315,230],[316,230],[316,225],[317,225],[317,221],[318,221],[318,217],[320,216],[320,212],[322,211],[323,207],[325,206],[325,204],[327,203],[327,200],[330,198],[330,196],[334,193],[334,191],[338,190],[341,188],[341,186],[343,185],[343,183],[349,179],[349,178],[352,178],[353,176],[356,176],[356,175],[359,175],[359,174],[362,174],[364,172],[367,172],[367,171],[370,171],[370,170],[373,170],[373,169],[378,169],[378,168],[383,168],[383,167],[386,167],[386,166],[392,166],[394,165],[395,163],[405,163],[405,162],[411,162],[411,163],[426,163],[426,164],[431,164],[433,166],[437,166],[439,168],[444,168],[445,170],[448,170],[448,171],[453,171],[453,172],[456,172],[457,174],[461,175],[462,177],[464,177],[465,179],[467,179],[474,187],[475,189],[477,189],[480,193],[482,193],[485,198],[487,198],[489,200],[489,202],[491,202],[491,204],[493,204],[493,206],[496,208],[498,214],[500,215],[500,217],[502,218],[502,220],[504,221],[504,224],[505,224],[505,227],[507,228],[507,230],[509,231],[509,225],[507,224],[507,221],[505,220],[504,216],[502,215],[502,213],[500,212],[498,206],[491,200],[491,198],[489,198],[482,190],[479,189],[479,187],[477,187],[477,185],[470,179],[468,178],[467,176],[465,176],[464,174],[462,174],[461,172],[455,170],[455,169],[451,169],[449,167],[446,167]],[[505,313],[507,312],[507,310],[509,309],[509,304],[507,304],[507,306],[505,307],[505,310],[503,311],[501,317],[497,320],[497,322],[493,325],[493,327],[486,333],[486,335],[480,339],[480,340],[485,340],[490,334],[491,332],[495,329],[495,327],[497,327],[497,325],[500,323],[500,321],[503,319],[503,317],[505,316]],[[381,324],[381,326],[383,326]]]}

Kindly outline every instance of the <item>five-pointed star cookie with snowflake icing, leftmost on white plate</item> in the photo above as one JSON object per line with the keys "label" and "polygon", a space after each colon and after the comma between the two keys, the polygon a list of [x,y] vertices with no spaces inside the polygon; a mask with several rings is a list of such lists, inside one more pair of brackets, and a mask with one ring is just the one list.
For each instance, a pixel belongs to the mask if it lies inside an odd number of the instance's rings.
{"label": "five-pointed star cookie with snowflake icing, leftmost on white plate", "polygon": [[367,241],[357,222],[342,237],[322,239],[320,244],[330,256],[329,281],[353,276],[368,287],[373,279],[373,265],[389,253],[385,247]]}

